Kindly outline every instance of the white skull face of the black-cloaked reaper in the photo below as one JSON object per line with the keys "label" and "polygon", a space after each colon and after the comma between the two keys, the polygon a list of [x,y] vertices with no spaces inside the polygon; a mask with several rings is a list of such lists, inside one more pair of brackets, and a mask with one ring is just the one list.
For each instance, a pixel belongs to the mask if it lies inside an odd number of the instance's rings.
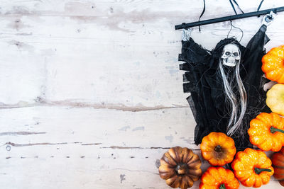
{"label": "white skull face of the black-cloaked reaper", "polygon": [[228,67],[235,67],[236,63],[241,59],[239,47],[234,44],[224,46],[221,61]]}

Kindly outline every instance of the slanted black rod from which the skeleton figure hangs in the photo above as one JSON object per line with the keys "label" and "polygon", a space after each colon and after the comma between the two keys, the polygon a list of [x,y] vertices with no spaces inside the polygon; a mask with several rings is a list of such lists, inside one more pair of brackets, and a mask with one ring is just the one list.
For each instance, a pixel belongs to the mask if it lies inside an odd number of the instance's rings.
{"label": "slanted black rod from which the skeleton figure hangs", "polygon": [[182,23],[180,25],[175,25],[175,30],[180,30],[180,29],[184,29],[184,28],[185,29],[186,28],[192,28],[192,27],[195,27],[195,26],[207,25],[207,24],[211,24],[211,23],[220,23],[220,22],[224,22],[224,21],[232,21],[232,20],[236,20],[236,19],[240,19],[240,18],[248,18],[248,17],[252,17],[252,16],[260,16],[260,15],[268,14],[271,11],[273,11],[274,13],[284,11],[284,6],[266,9],[266,10],[263,10],[263,11],[256,11],[256,12],[251,12],[251,13],[242,13],[242,14],[237,14],[237,15],[234,15],[234,16],[225,16],[225,17],[221,17],[221,18],[214,18],[214,19],[209,19],[209,20],[206,20],[206,21],[199,21],[199,22],[194,22],[194,23]]}

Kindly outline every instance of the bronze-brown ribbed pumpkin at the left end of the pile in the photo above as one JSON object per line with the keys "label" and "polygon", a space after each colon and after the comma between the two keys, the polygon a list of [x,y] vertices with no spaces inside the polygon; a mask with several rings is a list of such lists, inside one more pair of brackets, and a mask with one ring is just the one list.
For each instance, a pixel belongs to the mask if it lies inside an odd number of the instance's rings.
{"label": "bronze-brown ribbed pumpkin at the left end of the pile", "polygon": [[200,157],[191,149],[174,147],[160,159],[160,178],[172,188],[190,188],[202,175]]}

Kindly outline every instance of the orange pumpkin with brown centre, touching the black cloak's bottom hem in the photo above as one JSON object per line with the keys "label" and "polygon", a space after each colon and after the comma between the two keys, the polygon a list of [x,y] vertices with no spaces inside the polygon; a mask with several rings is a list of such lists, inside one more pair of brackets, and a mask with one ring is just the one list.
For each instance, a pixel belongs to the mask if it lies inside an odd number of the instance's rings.
{"label": "orange pumpkin with brown centre, touching the black cloak's bottom hem", "polygon": [[200,149],[203,159],[212,166],[224,166],[233,161],[236,154],[234,139],[222,132],[211,132],[203,137]]}

